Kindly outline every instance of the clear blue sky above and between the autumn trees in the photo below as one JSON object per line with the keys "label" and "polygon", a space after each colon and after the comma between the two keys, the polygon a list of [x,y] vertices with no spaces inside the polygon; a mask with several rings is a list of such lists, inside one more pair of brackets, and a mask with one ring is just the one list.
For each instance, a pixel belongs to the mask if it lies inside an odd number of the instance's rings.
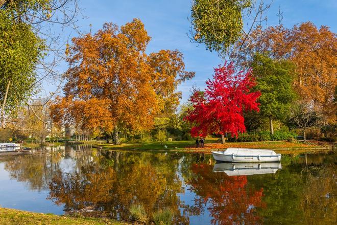
{"label": "clear blue sky above and between the autumn trees", "polygon": [[[268,2],[268,1],[266,1]],[[223,63],[216,53],[210,53],[205,47],[191,43],[187,37],[190,29],[188,17],[190,15],[190,0],[80,0],[82,14],[79,16],[78,26],[82,32],[92,32],[102,28],[104,22],[114,22],[121,26],[133,18],[139,18],[145,24],[148,34],[152,37],[147,52],[161,49],[178,49],[184,55],[186,70],[195,71],[196,76],[179,86],[183,93],[181,102],[187,101],[192,85],[205,87],[205,81],[212,76],[214,66]],[[268,25],[278,24],[276,16],[278,8],[283,11],[285,27],[292,27],[305,21],[312,21],[316,26],[329,26],[332,32],[337,30],[337,1],[333,0],[275,0],[268,10]],[[61,32],[61,31],[60,31]],[[69,35],[63,31],[64,37]],[[75,32],[71,37],[77,35]],[[61,66],[66,70],[67,66]],[[44,84],[46,90],[53,90],[53,84]]]}

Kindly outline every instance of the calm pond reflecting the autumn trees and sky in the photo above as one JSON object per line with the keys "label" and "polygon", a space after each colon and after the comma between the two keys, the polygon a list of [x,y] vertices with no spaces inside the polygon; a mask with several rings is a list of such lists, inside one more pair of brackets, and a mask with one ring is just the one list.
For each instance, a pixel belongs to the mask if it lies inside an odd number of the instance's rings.
{"label": "calm pond reflecting the autumn trees and sky", "polygon": [[136,204],[170,208],[175,224],[334,224],[336,172],[335,153],[234,165],[202,153],[38,148],[0,154],[0,205],[128,220]]}

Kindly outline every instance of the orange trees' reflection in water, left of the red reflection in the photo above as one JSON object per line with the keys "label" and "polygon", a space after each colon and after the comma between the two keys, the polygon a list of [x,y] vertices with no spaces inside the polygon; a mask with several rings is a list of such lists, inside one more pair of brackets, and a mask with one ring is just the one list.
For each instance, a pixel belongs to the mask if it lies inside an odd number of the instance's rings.
{"label": "orange trees' reflection in water, left of the red reflection", "polygon": [[[149,215],[170,208],[183,222],[177,193],[181,181],[177,159],[165,154],[105,152],[99,166],[84,166],[82,173],[59,171],[50,185],[50,198],[66,210],[94,209],[94,214],[128,219],[132,204],[141,204]],[[161,163],[165,161],[165,163]]]}

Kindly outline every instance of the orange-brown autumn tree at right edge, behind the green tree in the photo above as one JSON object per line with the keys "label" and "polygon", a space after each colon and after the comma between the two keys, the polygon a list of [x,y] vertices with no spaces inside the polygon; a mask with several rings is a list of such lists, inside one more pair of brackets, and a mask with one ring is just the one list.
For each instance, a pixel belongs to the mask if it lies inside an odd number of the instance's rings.
{"label": "orange-brown autumn tree at right edge, behind the green tree", "polygon": [[[304,22],[287,29],[269,27],[260,35],[259,28],[245,43],[245,53],[238,56],[244,64],[256,52],[268,53],[272,59],[290,59],[296,66],[294,86],[301,98],[314,103],[325,123],[335,123],[335,86],[337,85],[337,38],[329,27],[317,28]],[[239,43],[241,44],[241,43]]]}

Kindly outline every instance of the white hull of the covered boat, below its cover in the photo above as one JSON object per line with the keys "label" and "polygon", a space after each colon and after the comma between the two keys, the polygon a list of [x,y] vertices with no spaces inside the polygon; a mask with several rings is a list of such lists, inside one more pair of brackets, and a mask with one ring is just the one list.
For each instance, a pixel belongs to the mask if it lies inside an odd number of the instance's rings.
{"label": "white hull of the covered boat, below its cover", "polygon": [[226,154],[223,151],[212,151],[213,157],[218,162],[233,163],[259,163],[259,162],[280,162],[281,154],[276,155],[238,155]]}

